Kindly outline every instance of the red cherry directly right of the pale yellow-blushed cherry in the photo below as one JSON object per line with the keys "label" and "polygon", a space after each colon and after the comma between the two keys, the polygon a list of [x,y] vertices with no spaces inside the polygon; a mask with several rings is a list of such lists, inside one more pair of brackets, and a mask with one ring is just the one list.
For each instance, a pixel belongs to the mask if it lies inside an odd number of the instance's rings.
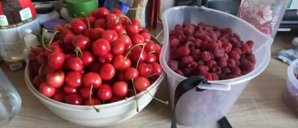
{"label": "red cherry directly right of the pale yellow-blushed cherry", "polygon": [[80,87],[82,85],[83,74],[79,71],[72,71],[66,74],[66,84],[72,87]]}

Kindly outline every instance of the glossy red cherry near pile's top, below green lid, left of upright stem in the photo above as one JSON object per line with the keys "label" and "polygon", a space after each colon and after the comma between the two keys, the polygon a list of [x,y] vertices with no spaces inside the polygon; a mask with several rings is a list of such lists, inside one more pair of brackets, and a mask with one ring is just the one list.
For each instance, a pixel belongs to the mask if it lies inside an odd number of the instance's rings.
{"label": "glossy red cherry near pile's top, below green lid, left of upright stem", "polygon": [[75,33],[75,35],[80,35],[87,30],[88,26],[85,24],[85,22],[82,19],[74,19],[71,23],[72,31]]}

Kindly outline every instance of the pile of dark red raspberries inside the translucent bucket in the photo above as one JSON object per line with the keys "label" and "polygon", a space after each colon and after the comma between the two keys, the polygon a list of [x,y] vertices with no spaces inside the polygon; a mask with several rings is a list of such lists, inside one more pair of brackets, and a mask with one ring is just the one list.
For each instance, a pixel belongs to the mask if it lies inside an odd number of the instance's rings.
{"label": "pile of dark red raspberries inside the translucent bucket", "polygon": [[168,66],[179,75],[201,75],[216,81],[237,78],[254,70],[254,42],[244,43],[231,28],[184,22],[182,26],[176,24],[169,35]]}

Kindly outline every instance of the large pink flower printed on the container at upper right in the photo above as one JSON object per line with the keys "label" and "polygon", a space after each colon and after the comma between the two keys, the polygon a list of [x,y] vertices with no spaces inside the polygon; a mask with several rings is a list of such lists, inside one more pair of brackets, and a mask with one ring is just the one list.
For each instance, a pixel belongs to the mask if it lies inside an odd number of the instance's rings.
{"label": "large pink flower printed on the container at upper right", "polygon": [[270,10],[270,6],[260,3],[259,5],[254,6],[254,18],[259,21],[259,24],[265,24],[268,21],[272,20],[272,10]]}

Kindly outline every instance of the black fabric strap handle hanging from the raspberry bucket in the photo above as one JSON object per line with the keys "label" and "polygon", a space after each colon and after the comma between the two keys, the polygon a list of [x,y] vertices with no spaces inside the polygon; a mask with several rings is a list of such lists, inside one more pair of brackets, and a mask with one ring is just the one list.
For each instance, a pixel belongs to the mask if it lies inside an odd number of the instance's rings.
{"label": "black fabric strap handle hanging from the raspberry bucket", "polygon": [[[178,86],[176,87],[176,90],[175,90],[175,94],[174,94],[174,111],[173,111],[171,128],[177,128],[177,124],[176,124],[176,105],[177,105],[178,100],[180,99],[180,97],[184,93],[186,93],[190,90],[193,90],[194,88],[196,88],[197,92],[205,91],[206,89],[200,89],[200,88],[197,87],[201,83],[209,84],[208,81],[206,80],[206,78],[203,77],[203,76],[193,76],[193,77],[190,77],[190,78],[187,78],[187,79],[181,81],[178,84]],[[222,128],[232,128],[231,124],[226,119],[226,117],[221,118],[218,121],[218,124]]]}

